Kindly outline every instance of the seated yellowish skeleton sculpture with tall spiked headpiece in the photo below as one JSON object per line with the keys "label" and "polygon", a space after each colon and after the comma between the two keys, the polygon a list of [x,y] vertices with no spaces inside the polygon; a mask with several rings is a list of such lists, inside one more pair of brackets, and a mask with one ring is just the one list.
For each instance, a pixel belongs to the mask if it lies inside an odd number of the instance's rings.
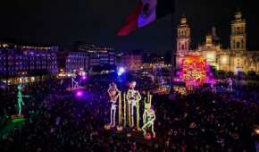
{"label": "seated yellowish skeleton sculpture with tall spiked headpiece", "polygon": [[155,122],[155,111],[151,108],[151,101],[152,101],[152,95],[147,95],[147,102],[146,97],[144,100],[145,110],[143,114],[143,135],[146,139],[150,139],[147,137],[150,136],[150,134],[146,134],[146,131],[151,128],[151,131],[153,133],[153,138],[155,138],[155,131],[154,131],[154,122]]}

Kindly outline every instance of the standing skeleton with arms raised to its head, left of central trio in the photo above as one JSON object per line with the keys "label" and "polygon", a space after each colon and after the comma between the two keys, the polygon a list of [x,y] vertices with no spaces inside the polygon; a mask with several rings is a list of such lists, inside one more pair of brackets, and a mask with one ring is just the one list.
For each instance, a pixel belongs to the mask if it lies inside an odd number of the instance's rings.
{"label": "standing skeleton with arms raised to its head, left of central trio", "polygon": [[116,105],[116,102],[118,100],[118,97],[120,96],[121,94],[121,91],[119,89],[117,89],[117,86],[115,83],[113,83],[112,85],[110,84],[110,87],[108,89],[108,93],[109,93],[109,96],[111,97],[111,100],[110,102],[112,103],[112,106],[111,106],[111,122],[110,122],[110,125],[112,127],[114,127],[116,125],[116,108],[117,108],[117,105]]}

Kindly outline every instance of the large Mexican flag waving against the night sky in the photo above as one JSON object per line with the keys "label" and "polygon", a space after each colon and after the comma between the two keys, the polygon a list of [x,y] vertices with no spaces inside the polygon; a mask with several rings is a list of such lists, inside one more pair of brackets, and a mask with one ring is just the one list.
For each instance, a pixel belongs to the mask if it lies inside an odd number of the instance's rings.
{"label": "large Mexican flag waving against the night sky", "polygon": [[174,0],[139,0],[137,7],[126,16],[126,24],[117,32],[127,36],[133,30],[145,27],[153,21],[172,13]]}

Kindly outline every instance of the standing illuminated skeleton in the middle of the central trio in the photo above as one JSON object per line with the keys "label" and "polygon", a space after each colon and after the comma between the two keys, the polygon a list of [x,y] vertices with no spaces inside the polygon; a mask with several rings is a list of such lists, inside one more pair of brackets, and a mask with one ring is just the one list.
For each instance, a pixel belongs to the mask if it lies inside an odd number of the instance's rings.
{"label": "standing illuminated skeleton in the middle of the central trio", "polygon": [[[134,107],[138,113],[138,102],[141,100],[141,96],[138,92],[138,90],[135,90],[136,87],[136,81],[132,81],[129,83],[129,90],[127,92],[127,101],[129,104],[129,113],[130,113],[130,120],[129,124],[130,127],[134,127]],[[137,124],[138,124],[138,116],[137,115]]]}

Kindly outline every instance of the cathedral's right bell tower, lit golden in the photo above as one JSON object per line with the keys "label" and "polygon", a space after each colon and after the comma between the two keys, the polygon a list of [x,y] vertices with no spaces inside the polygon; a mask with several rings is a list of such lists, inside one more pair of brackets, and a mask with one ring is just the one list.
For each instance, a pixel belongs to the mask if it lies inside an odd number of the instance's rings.
{"label": "cathedral's right bell tower, lit golden", "polygon": [[235,14],[235,19],[231,22],[230,48],[238,51],[246,50],[246,20],[242,18],[240,11]]}

